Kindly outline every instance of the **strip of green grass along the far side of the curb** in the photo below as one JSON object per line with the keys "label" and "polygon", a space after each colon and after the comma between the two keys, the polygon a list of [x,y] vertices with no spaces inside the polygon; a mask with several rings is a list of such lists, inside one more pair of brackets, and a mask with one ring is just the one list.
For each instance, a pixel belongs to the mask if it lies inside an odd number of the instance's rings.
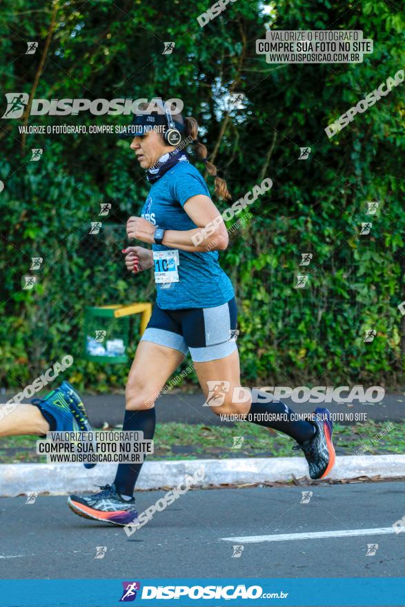
{"label": "strip of green grass along the far side of the curb", "polygon": [[[337,455],[386,455],[405,453],[405,420],[368,420],[353,426],[334,426]],[[0,463],[45,463],[36,454],[37,437],[0,439]],[[161,459],[221,459],[226,457],[292,457],[295,441],[254,424],[233,427],[201,424],[157,424],[155,453],[148,461]],[[361,450],[360,453],[358,451]]]}

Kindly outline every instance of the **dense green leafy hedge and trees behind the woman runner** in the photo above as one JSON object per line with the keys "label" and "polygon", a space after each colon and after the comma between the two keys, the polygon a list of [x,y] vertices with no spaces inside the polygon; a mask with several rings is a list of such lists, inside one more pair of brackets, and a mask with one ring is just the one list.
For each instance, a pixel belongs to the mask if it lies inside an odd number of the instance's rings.
{"label": "dense green leafy hedge and trees behind the woman runner", "polygon": [[[4,0],[0,18],[10,34],[0,40],[4,92],[32,91],[54,6]],[[273,179],[273,188],[249,208],[253,219],[233,232],[221,255],[237,293],[244,379],[253,385],[402,384],[404,85],[333,139],[324,128],[402,68],[403,14],[384,1],[344,10],[337,1],[277,0],[268,13],[259,2],[240,0],[201,29],[197,16],[206,0],[187,11],[172,0],[126,2],[122,10],[95,0],[56,6],[35,97],[180,97],[186,113],[204,125],[209,150],[218,146],[215,162],[234,199],[263,177]],[[255,54],[266,26],[360,29],[375,51],[359,64],[269,65]],[[25,55],[26,41],[36,39],[37,54]],[[175,50],[163,55],[167,40]],[[232,91],[246,94],[244,110],[224,110]],[[153,301],[150,273],[128,275],[121,254],[126,219],[139,214],[148,191],[144,176],[128,143],[112,135],[28,135],[24,141],[21,121],[1,122],[1,386],[28,384],[70,353],[75,364],[66,377],[77,386],[122,388],[129,366],[83,359],[83,310]],[[125,119],[46,116],[30,117],[29,124],[95,122]],[[304,146],[312,152],[299,161]],[[30,162],[31,148],[43,148],[39,162]],[[212,189],[209,178],[208,185]],[[370,217],[365,202],[371,200],[379,209]],[[89,235],[90,221],[102,219],[101,202],[112,204],[110,216],[99,235]],[[360,236],[368,220],[371,234]],[[308,268],[299,266],[302,252],[313,253]],[[31,257],[43,257],[32,292],[21,289],[21,277],[34,273]],[[294,288],[302,270],[308,286]],[[131,354],[138,323],[131,325]],[[377,335],[367,344],[369,328]]]}

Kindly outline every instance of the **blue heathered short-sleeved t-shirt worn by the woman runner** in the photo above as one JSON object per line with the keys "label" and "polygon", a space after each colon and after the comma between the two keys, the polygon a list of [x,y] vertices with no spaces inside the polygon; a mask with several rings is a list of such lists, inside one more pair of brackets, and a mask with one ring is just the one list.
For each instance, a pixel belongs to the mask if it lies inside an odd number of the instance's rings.
{"label": "blue heathered short-sleeved t-shirt worn by the woman runner", "polygon": [[[155,181],[141,215],[166,230],[192,230],[198,226],[188,217],[184,204],[192,196],[210,196],[199,171],[181,161]],[[152,245],[154,251],[174,250]],[[164,310],[215,308],[233,299],[233,286],[218,263],[218,252],[179,251],[179,282],[157,283],[157,305]]]}

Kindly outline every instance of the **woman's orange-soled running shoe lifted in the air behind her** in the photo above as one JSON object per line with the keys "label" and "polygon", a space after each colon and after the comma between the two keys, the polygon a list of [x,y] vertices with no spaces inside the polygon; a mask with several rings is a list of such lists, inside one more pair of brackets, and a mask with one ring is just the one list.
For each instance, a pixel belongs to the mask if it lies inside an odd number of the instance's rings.
{"label": "woman's orange-soled running shoe lifted in the air behind her", "polygon": [[310,423],[315,426],[315,435],[309,441],[293,446],[302,449],[308,461],[311,479],[323,479],[335,466],[335,448],[333,447],[333,419],[328,409],[318,407],[313,412]]}

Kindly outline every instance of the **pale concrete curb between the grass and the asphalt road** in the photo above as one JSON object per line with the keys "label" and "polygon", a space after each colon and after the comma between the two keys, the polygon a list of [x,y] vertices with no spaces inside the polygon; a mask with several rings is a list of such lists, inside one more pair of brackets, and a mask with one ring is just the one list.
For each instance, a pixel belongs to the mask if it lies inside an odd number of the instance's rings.
{"label": "pale concrete curb between the grass and the asphalt road", "polygon": [[[137,490],[173,488],[194,474],[200,466],[205,477],[200,487],[221,484],[288,482],[308,477],[304,457],[266,457],[235,459],[182,459],[146,461]],[[0,497],[16,497],[31,492],[49,495],[94,492],[95,485],[112,482],[117,464],[99,464],[86,470],[81,464],[0,464]],[[395,479],[405,477],[405,455],[357,455],[336,458],[328,479],[357,477]]]}

